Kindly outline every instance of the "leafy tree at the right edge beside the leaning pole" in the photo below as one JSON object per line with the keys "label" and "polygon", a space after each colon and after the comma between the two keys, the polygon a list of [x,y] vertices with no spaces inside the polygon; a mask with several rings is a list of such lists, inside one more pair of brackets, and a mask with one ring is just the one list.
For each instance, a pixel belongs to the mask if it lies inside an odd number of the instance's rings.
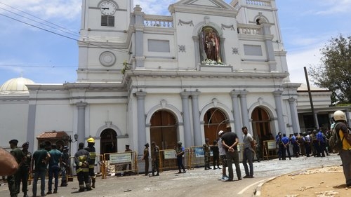
{"label": "leafy tree at the right edge beside the leaning pole", "polygon": [[333,103],[351,102],[351,36],[331,38],[320,52],[322,65],[309,70],[312,81],[332,91]]}

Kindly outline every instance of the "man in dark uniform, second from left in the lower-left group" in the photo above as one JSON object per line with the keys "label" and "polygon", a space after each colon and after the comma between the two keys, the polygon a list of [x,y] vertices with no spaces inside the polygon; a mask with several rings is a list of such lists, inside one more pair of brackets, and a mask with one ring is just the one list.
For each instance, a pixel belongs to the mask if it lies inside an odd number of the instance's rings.
{"label": "man in dark uniform, second from left in the lower-left group", "polygon": [[22,144],[22,152],[24,154],[24,158],[20,164],[20,179],[18,179],[18,186],[20,186],[20,182],[22,182],[22,192],[24,197],[28,197],[28,178],[30,171],[30,163],[32,161],[32,153],[28,151],[29,142],[25,142]]}

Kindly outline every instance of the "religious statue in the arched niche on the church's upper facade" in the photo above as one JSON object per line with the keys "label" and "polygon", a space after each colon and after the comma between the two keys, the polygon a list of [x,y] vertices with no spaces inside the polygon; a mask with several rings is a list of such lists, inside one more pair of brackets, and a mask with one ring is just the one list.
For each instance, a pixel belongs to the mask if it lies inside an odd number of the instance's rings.
{"label": "religious statue in the arched niche on the church's upper facade", "polygon": [[220,38],[216,30],[211,27],[204,27],[200,39],[202,60],[212,60],[218,63],[222,62],[220,58]]}

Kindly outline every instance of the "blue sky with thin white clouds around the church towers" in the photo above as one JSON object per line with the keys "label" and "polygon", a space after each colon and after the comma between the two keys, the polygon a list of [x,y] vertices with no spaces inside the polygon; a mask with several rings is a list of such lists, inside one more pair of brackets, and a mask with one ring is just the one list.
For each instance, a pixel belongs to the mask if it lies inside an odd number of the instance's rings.
{"label": "blue sky with thin white clouds around the church towers", "polygon": [[[169,15],[174,2],[134,0],[134,5],[146,14]],[[351,0],[276,4],[291,82],[305,83],[303,67],[320,64],[319,49],[338,34],[350,36]],[[0,85],[20,76],[35,83],[76,81],[80,18],[81,0],[0,0]]]}

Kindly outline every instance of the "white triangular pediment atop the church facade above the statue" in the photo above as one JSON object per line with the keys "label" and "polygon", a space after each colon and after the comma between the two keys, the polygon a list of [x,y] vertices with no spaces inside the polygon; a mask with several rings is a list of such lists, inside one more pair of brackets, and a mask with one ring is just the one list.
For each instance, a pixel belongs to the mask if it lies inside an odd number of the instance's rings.
{"label": "white triangular pediment atop the church facade above the statue", "polygon": [[168,7],[170,13],[236,16],[237,10],[223,0],[180,0]]}

